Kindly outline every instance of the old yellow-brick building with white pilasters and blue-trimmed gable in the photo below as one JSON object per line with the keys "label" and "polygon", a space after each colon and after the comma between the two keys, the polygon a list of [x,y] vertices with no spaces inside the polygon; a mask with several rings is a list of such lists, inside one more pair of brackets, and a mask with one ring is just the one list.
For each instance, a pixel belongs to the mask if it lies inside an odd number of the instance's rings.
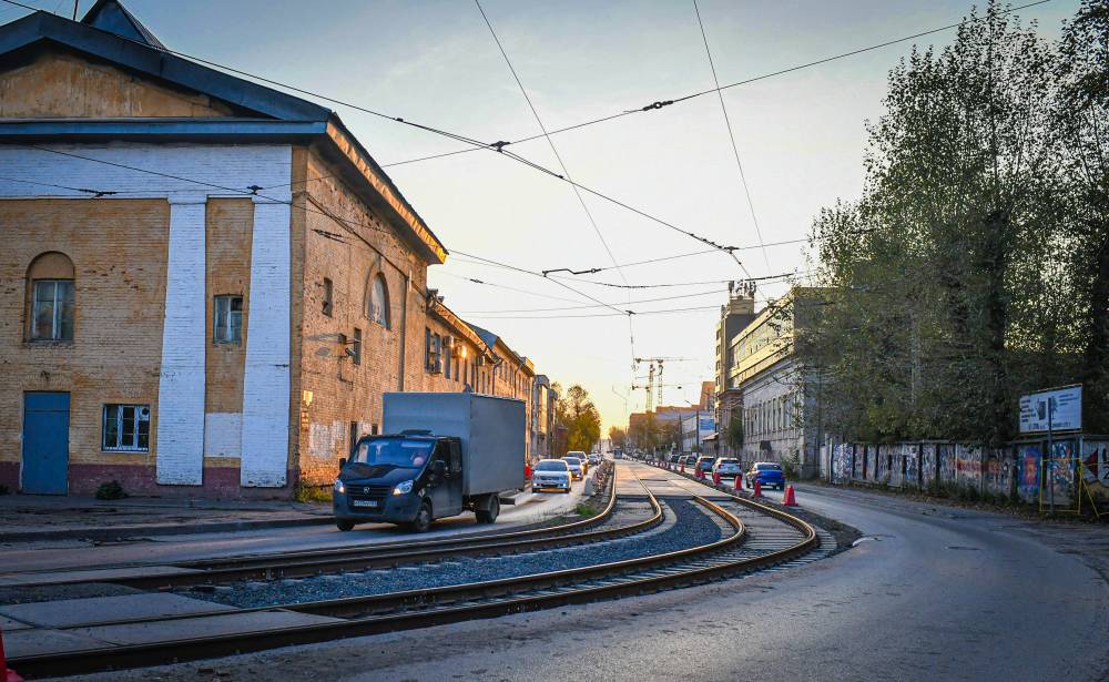
{"label": "old yellow-brick building with white pilasters and blue-trimmed gable", "polygon": [[0,485],[288,496],[387,391],[529,399],[530,364],[495,371],[518,356],[428,292],[446,250],[334,112],[112,0],[4,24],[0,54]]}

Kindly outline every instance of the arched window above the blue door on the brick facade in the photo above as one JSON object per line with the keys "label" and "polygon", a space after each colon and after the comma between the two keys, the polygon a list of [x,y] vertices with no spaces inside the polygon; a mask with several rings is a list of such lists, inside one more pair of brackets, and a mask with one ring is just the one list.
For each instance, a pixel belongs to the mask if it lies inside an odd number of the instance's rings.
{"label": "arched window above the blue door on the brick facade", "polygon": [[58,252],[40,254],[27,268],[27,338],[73,340],[73,262]]}

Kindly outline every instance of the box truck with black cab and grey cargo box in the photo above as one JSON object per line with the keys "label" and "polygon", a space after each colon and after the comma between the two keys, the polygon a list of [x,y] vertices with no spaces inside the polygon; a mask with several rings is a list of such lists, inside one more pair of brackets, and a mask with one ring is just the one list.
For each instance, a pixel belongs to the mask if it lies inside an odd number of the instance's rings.
{"label": "box truck with black cab and grey cargo box", "polygon": [[500,513],[500,493],[523,488],[525,405],[475,393],[387,393],[380,436],[339,460],[335,525],[389,522],[426,531],[435,519]]}

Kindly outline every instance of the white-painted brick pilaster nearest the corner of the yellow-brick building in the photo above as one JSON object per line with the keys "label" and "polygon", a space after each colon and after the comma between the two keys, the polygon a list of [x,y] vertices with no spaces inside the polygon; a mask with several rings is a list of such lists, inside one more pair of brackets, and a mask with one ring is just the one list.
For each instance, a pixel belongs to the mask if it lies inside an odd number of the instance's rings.
{"label": "white-painted brick pilaster nearest the corner of the yellow-brick building", "polygon": [[279,488],[288,466],[289,206],[256,199],[243,378],[244,487]]}

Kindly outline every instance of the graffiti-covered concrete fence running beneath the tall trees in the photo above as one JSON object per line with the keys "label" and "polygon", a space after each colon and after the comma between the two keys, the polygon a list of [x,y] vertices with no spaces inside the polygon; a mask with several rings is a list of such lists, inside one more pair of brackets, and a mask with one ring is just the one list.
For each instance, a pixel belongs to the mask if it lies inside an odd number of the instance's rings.
{"label": "graffiti-covered concrete fence running beneath the tall trees", "polygon": [[[1065,436],[1000,448],[953,441],[888,445],[832,442],[821,450],[821,477],[832,483],[974,491],[979,496],[1052,499],[1068,506],[1109,502],[1109,437]],[[1085,486],[1079,486],[1079,479]],[[1089,491],[1089,495],[1087,495]]]}

